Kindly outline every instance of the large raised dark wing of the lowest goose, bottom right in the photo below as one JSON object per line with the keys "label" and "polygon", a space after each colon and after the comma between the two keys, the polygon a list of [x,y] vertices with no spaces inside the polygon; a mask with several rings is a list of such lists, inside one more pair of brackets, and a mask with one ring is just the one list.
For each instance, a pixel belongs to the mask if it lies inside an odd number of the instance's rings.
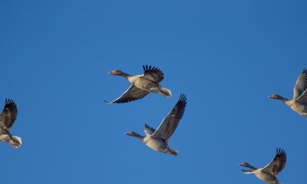
{"label": "large raised dark wing of the lowest goose, bottom right", "polygon": [[276,148],[275,158],[272,160],[270,164],[268,164],[262,171],[270,173],[276,176],[278,173],[282,171],[287,162],[286,152]]}

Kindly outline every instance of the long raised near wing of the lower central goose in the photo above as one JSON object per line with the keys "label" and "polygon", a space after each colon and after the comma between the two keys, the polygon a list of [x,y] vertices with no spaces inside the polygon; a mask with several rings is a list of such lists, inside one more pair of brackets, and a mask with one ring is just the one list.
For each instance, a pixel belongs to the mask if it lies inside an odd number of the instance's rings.
{"label": "long raised near wing of the lower central goose", "polygon": [[176,130],[179,120],[183,117],[183,113],[187,104],[187,98],[184,94],[180,95],[180,98],[176,105],[170,110],[167,116],[163,119],[162,123],[152,134],[153,137],[164,140],[165,143],[168,142],[171,135]]}

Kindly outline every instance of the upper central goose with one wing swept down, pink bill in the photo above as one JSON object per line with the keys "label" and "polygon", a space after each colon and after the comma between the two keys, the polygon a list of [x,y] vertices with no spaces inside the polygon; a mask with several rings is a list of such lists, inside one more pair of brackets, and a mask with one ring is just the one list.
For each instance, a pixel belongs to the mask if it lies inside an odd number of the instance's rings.
{"label": "upper central goose with one wing swept down, pink bill", "polygon": [[151,93],[157,93],[165,97],[171,97],[171,91],[160,85],[160,82],[164,79],[163,73],[157,67],[144,66],[144,74],[131,76],[119,70],[109,72],[109,75],[122,76],[131,83],[131,86],[125,91],[125,93],[113,102],[105,103],[126,103],[144,98]]}

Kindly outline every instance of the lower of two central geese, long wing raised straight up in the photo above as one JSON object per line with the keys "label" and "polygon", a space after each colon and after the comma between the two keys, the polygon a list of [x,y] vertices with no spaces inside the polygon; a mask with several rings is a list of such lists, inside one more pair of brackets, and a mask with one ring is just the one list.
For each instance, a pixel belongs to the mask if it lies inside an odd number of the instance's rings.
{"label": "lower of two central geese, long wing raised straight up", "polygon": [[167,143],[171,135],[176,130],[179,124],[179,120],[183,117],[185,106],[187,104],[186,100],[186,96],[184,94],[181,94],[178,102],[163,119],[157,130],[145,124],[144,131],[147,135],[146,137],[139,135],[133,131],[127,132],[125,134],[137,137],[149,148],[155,151],[177,156],[178,151],[176,149],[169,148]]}

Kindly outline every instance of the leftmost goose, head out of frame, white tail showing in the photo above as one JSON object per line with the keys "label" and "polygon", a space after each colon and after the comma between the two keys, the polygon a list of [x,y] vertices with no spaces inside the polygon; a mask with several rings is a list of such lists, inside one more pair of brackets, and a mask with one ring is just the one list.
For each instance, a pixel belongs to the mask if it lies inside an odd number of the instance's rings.
{"label": "leftmost goose, head out of frame, white tail showing", "polygon": [[14,101],[5,99],[4,108],[0,114],[0,142],[9,143],[14,148],[19,148],[21,138],[10,133],[10,128],[13,126],[17,117],[17,106]]}

